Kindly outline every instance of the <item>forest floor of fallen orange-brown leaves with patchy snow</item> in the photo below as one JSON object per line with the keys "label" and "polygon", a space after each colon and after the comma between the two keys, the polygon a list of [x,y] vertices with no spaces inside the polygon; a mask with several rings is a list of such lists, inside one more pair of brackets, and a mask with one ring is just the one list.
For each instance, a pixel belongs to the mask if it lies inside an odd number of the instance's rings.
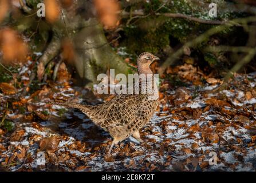
{"label": "forest floor of fallen orange-brown leaves with patchy snow", "polygon": [[[18,70],[17,82],[28,84],[31,64]],[[169,68],[159,109],[140,130],[144,142],[129,138],[106,157],[112,141],[107,132],[79,110],[46,103],[58,98],[99,104],[111,97],[73,86],[64,71],[57,82],[33,92],[31,86],[23,97],[12,82],[0,84],[0,170],[256,170],[256,73],[235,74],[220,89],[222,80],[192,65]]]}

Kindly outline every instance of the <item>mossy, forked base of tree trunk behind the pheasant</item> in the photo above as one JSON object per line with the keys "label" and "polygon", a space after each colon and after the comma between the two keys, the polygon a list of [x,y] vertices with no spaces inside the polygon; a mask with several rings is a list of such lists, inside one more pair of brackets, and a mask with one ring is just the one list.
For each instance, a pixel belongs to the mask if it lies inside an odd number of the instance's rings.
{"label": "mossy, forked base of tree trunk behind the pheasant", "polygon": [[[29,5],[34,2],[26,1]],[[33,7],[35,9],[36,4]],[[107,73],[107,69],[115,69],[116,74],[128,74],[127,64],[107,42],[94,12],[89,0],[73,1],[71,7],[61,10],[60,20],[52,25],[52,40],[39,60],[44,67],[60,53],[61,40],[68,38],[74,46],[73,65],[86,85],[97,83],[97,75]]]}

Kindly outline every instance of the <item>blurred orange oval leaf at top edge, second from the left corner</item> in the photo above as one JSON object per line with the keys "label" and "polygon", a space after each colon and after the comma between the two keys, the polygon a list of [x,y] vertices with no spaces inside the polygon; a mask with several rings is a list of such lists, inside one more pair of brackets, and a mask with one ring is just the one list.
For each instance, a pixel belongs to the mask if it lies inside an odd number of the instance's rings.
{"label": "blurred orange oval leaf at top edge, second from the left corner", "polygon": [[60,17],[60,5],[56,0],[44,0],[45,2],[45,18],[48,22],[53,23]]}

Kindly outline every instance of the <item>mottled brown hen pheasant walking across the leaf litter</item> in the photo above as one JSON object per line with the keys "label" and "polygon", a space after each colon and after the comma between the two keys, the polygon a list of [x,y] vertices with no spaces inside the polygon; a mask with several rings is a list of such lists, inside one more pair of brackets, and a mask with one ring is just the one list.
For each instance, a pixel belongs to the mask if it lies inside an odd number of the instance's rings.
{"label": "mottled brown hen pheasant walking across the leaf litter", "polygon": [[[159,58],[151,53],[140,54],[137,59],[139,75],[153,74],[150,65],[156,59]],[[158,98],[152,100],[150,96],[152,94],[143,94],[140,90],[139,94],[119,94],[111,101],[94,106],[62,101],[50,103],[80,109],[94,124],[108,131],[113,137],[113,142],[108,152],[109,155],[115,144],[131,135],[138,141],[143,142],[140,138],[139,130],[149,122],[158,105]]]}

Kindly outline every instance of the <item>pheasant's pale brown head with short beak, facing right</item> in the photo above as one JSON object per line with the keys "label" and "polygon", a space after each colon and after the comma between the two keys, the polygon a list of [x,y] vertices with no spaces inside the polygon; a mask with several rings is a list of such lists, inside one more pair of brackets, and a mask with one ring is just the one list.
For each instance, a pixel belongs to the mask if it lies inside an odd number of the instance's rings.
{"label": "pheasant's pale brown head with short beak, facing right", "polygon": [[137,58],[137,68],[138,68],[139,74],[152,73],[150,69],[150,65],[156,60],[159,60],[159,58],[153,55],[152,53],[148,53],[148,52],[141,53]]}

